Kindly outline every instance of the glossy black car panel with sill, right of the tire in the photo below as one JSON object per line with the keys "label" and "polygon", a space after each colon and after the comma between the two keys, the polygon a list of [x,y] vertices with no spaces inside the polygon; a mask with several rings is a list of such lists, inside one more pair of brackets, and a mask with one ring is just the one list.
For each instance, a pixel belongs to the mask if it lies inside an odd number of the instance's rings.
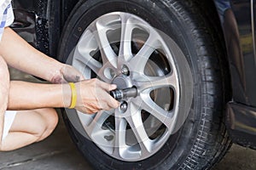
{"label": "glossy black car panel with sill, right of the tire", "polygon": [[[254,1],[215,0],[230,63],[232,101],[227,125],[234,142],[255,147],[256,55]],[[244,135],[241,135],[244,134]]]}

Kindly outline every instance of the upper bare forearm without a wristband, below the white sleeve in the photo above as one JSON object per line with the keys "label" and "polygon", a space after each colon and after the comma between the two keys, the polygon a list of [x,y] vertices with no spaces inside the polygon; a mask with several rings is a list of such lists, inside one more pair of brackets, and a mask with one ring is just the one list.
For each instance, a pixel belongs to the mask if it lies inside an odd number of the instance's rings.
{"label": "upper bare forearm without a wristband, below the white sleeve", "polygon": [[0,54],[16,69],[48,81],[58,76],[63,66],[60,62],[33,48],[8,27],[5,28],[0,42]]}

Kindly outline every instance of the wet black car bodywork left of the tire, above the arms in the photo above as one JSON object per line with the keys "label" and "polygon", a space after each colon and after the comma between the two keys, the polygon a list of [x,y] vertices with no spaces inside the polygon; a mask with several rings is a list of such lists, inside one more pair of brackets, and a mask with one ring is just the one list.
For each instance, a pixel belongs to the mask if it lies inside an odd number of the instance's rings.
{"label": "wet black car bodywork left of the tire, above the arms", "polygon": [[61,29],[78,0],[14,0],[13,28],[33,47],[56,56]]}

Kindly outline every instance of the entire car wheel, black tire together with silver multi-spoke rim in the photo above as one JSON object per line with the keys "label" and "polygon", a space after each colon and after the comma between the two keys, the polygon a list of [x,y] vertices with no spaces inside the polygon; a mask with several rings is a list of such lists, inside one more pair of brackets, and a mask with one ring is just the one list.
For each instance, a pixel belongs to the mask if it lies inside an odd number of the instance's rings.
{"label": "entire car wheel, black tire together with silver multi-spoke rim", "polygon": [[85,78],[137,88],[115,111],[63,111],[93,167],[209,169],[229,149],[229,79],[204,10],[190,0],[83,0],[73,9],[59,59]]}

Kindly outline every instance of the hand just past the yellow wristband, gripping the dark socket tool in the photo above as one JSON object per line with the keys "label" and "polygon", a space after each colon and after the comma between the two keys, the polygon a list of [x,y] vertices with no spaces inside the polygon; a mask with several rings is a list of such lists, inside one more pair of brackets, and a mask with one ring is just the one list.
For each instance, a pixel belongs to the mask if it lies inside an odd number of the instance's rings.
{"label": "hand just past the yellow wristband, gripping the dark socket tool", "polygon": [[119,102],[109,94],[109,91],[116,88],[114,84],[108,84],[94,78],[77,82],[75,86],[78,97],[75,109],[78,111],[92,114],[119,107]]}

